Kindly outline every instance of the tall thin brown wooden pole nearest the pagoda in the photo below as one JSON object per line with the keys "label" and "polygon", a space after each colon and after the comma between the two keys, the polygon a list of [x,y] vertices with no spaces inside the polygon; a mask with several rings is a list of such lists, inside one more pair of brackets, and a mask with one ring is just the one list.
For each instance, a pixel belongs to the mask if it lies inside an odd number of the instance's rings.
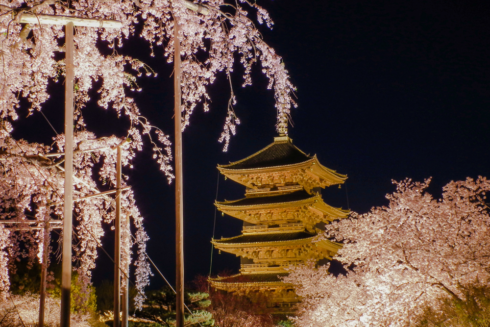
{"label": "tall thin brown wooden pole nearest the pagoda", "polygon": [[181,106],[181,73],[180,73],[180,39],[179,25],[173,16],[173,91],[175,97],[175,291],[177,301],[175,306],[175,327],[184,326],[184,201],[182,183],[182,112]]}

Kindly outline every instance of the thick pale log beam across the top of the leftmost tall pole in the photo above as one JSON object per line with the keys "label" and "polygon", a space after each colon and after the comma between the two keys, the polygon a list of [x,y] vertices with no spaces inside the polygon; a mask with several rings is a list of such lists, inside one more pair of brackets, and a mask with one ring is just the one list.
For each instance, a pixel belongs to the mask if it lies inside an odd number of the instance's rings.
{"label": "thick pale log beam across the top of the leftmost tall pole", "polygon": [[19,14],[19,23],[22,24],[44,24],[44,25],[67,25],[72,22],[75,26],[98,27],[98,28],[121,28],[123,24],[110,19],[81,18],[56,15],[34,15],[28,12]]}

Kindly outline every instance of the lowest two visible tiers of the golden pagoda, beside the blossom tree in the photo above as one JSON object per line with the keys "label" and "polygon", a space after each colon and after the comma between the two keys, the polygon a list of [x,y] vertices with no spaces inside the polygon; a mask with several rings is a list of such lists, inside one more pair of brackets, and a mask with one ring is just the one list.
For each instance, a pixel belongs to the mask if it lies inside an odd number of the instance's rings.
{"label": "lowest two visible tiers of the golden pagoda, beside the blossom tree", "polygon": [[300,298],[294,285],[284,283],[281,277],[288,275],[291,266],[305,265],[307,260],[331,259],[342,246],[316,240],[316,233],[305,230],[303,224],[286,224],[275,231],[263,227],[244,226],[243,235],[213,239],[211,243],[216,249],[240,256],[247,263],[241,264],[240,274],[209,281],[214,288],[238,292],[260,303],[260,312],[293,314]]}

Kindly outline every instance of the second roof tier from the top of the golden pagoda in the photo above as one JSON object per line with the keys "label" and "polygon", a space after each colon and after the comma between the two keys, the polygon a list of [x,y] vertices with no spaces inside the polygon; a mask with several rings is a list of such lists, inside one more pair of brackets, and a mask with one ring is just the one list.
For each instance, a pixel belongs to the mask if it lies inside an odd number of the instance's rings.
{"label": "second roof tier from the top of the golden pagoda", "polygon": [[349,210],[326,204],[320,194],[304,190],[250,196],[236,201],[215,202],[218,210],[254,225],[303,223],[311,230],[318,223],[346,218]]}

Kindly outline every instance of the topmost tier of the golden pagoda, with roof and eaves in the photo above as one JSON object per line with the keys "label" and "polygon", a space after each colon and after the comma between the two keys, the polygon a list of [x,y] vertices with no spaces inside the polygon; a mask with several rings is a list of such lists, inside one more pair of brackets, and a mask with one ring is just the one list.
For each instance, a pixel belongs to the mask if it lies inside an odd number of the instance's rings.
{"label": "topmost tier of the golden pagoda, with roof and eaves", "polygon": [[227,165],[218,165],[221,174],[245,185],[247,193],[295,189],[308,192],[316,187],[341,184],[347,176],[322,166],[317,156],[296,148],[287,136],[274,137],[264,149]]}

